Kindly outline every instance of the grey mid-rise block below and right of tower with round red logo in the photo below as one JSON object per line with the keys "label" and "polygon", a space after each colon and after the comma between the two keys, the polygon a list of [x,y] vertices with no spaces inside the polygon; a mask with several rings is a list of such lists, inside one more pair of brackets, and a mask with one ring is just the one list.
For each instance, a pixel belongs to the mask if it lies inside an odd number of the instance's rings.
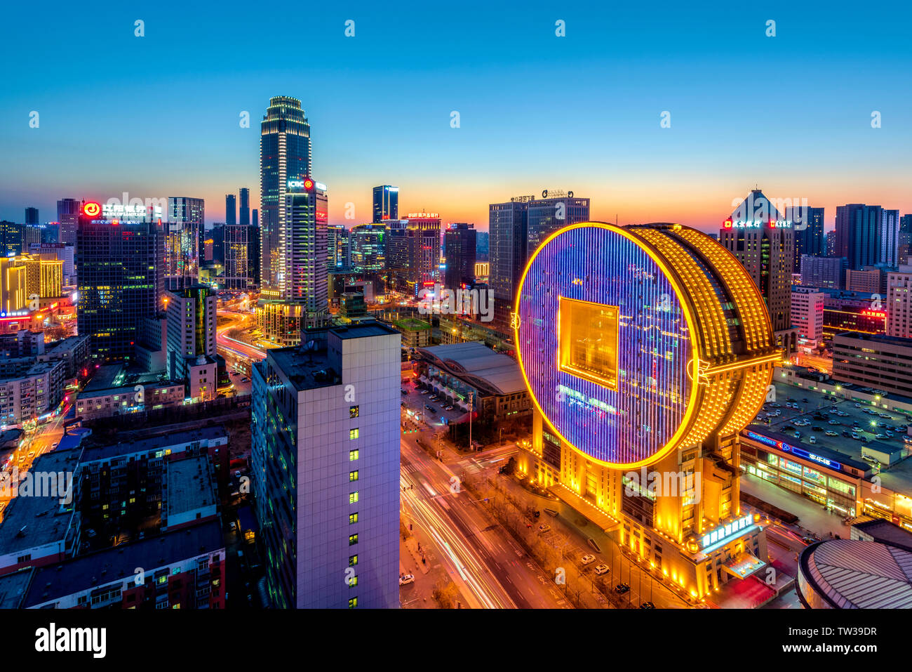
{"label": "grey mid-rise block below and right of tower with round red logo", "polygon": [[218,387],[215,361],[215,291],[206,285],[190,285],[169,291],[168,375],[185,381],[188,398],[214,399]]}

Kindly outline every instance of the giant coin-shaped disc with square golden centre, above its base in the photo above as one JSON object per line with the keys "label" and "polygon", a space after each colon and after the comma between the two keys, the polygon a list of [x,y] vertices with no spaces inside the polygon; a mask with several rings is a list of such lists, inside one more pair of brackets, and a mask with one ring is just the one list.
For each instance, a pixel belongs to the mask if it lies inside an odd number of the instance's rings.
{"label": "giant coin-shaped disc with square golden centre, above its base", "polygon": [[687,226],[566,226],[529,260],[515,312],[535,407],[607,467],[737,435],[780,359],[750,276]]}

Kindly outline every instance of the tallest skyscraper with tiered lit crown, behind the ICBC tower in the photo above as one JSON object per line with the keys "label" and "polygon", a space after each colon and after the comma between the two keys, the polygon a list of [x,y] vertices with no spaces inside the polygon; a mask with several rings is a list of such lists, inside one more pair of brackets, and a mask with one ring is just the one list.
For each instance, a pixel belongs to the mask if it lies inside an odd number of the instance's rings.
{"label": "tallest skyscraper with tiered lit crown, behind the ICBC tower", "polygon": [[267,297],[278,295],[288,183],[300,183],[310,175],[310,156],[310,124],[301,101],[288,96],[270,99],[260,124],[260,282]]}

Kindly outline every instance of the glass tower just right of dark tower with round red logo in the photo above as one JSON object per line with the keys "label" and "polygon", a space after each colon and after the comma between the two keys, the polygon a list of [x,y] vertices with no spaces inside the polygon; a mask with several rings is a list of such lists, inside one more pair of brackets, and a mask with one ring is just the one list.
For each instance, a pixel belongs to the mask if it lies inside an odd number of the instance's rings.
{"label": "glass tower just right of dark tower with round red logo", "polygon": [[180,289],[194,284],[200,275],[198,240],[205,226],[202,198],[168,197],[165,234],[165,287]]}

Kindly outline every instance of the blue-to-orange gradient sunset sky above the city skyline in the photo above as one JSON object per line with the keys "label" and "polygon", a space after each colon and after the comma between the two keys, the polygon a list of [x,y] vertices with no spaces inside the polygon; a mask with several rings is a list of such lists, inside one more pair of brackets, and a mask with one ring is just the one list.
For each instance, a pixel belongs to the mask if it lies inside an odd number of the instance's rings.
{"label": "blue-to-orange gradient sunset sky above the city skyline", "polygon": [[400,214],[482,229],[488,204],[544,188],[590,197],[596,220],[707,231],[754,184],[824,206],[827,227],[846,203],[912,212],[908,4],[680,5],[8,5],[0,218],[128,192],[205,198],[212,223],[241,186],[258,207],[275,95],[302,101],[349,226],[375,184],[399,185]]}

